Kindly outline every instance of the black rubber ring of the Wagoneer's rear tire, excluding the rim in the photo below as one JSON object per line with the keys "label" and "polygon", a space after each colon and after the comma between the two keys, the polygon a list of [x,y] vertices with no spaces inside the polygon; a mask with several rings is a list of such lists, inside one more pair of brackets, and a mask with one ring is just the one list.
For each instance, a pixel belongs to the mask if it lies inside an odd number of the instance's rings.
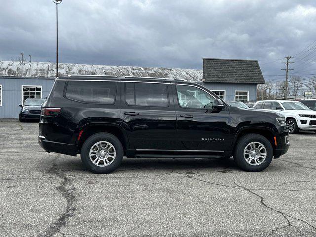
{"label": "black rubber ring of the Wagoneer's rear tire, excluding the rim", "polygon": [[[116,151],[116,157],[114,161],[105,167],[99,167],[92,163],[90,160],[90,149],[93,144],[99,142],[99,141],[107,141],[110,142]],[[90,136],[84,143],[81,148],[81,160],[84,166],[90,170],[93,173],[97,174],[106,174],[114,171],[118,168],[118,166],[121,164],[123,159],[123,146],[121,142],[118,140],[118,138],[112,134],[109,133],[97,133],[92,136]]]}

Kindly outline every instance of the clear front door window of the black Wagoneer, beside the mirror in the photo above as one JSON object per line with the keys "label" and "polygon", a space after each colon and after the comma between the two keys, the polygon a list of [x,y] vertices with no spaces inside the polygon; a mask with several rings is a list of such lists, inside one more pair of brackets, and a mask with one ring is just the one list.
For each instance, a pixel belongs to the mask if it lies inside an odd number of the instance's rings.
{"label": "clear front door window of the black Wagoneer, beside the mirror", "polygon": [[183,108],[213,108],[214,98],[205,91],[188,85],[177,85],[179,105]]}

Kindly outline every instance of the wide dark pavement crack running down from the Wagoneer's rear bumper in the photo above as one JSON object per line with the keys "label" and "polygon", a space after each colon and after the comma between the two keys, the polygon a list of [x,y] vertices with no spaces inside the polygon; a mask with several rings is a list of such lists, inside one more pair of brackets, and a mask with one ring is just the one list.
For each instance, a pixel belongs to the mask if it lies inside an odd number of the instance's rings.
{"label": "wide dark pavement crack running down from the Wagoneer's rear bumper", "polygon": [[44,235],[41,235],[44,237],[51,237],[56,232],[61,233],[60,229],[67,224],[69,218],[71,218],[76,211],[77,197],[74,195],[75,186],[71,182],[71,180],[67,178],[66,175],[60,169],[58,169],[56,161],[59,157],[60,156],[58,154],[57,157],[53,160],[53,166],[49,169],[48,172],[53,175],[56,175],[62,180],[61,184],[58,187],[56,187],[56,189],[66,199],[67,204],[64,212],[61,213],[58,220],[52,223],[47,228]]}

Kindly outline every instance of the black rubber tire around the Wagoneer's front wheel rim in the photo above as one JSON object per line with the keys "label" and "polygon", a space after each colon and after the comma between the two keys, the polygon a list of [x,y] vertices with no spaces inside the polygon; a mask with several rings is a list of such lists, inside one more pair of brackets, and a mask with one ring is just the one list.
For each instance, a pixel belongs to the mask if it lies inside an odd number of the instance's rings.
{"label": "black rubber tire around the Wagoneer's front wheel rim", "polygon": [[[239,140],[237,144],[237,148],[234,153],[234,160],[237,163],[237,165],[245,171],[259,172],[266,169],[271,163],[272,158],[273,158],[273,148],[272,148],[271,143],[264,136],[256,135],[256,134],[251,134],[250,136],[249,135],[246,135]],[[264,162],[260,165],[248,164],[244,158],[244,155],[243,155],[244,149],[251,142],[260,142],[266,148],[267,157],[264,160]]]}

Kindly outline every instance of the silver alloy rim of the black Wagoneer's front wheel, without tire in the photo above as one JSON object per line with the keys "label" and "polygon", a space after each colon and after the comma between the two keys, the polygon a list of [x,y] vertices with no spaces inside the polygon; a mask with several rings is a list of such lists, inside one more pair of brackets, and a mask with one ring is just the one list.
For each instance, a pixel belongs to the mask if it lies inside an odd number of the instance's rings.
{"label": "silver alloy rim of the black Wagoneer's front wheel, without tire", "polygon": [[243,157],[250,165],[260,165],[267,157],[267,149],[260,142],[250,142],[243,151]]}

